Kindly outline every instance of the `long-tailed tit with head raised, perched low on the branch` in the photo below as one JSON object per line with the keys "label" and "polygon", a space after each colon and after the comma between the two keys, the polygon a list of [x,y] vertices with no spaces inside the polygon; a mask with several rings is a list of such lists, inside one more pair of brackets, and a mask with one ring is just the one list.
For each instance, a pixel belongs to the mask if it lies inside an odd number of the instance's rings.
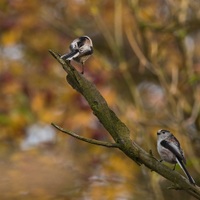
{"label": "long-tailed tit with head raised, perched low on the branch", "polygon": [[172,164],[178,163],[190,183],[195,185],[194,179],[185,167],[186,159],[180,143],[170,131],[159,130],[157,132],[157,150],[162,160]]}

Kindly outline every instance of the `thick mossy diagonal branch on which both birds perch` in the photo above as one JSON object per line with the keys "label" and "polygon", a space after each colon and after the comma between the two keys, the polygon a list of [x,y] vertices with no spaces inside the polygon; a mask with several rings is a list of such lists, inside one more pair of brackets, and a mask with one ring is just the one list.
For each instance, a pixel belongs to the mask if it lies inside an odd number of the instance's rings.
{"label": "thick mossy diagonal branch on which both birds perch", "polygon": [[62,60],[59,54],[51,50],[50,53],[67,72],[68,83],[85,97],[94,115],[96,115],[101,124],[110,133],[116,144],[119,145],[118,148],[121,151],[137,164],[144,164],[151,171],[155,171],[173,182],[179,189],[185,190],[190,195],[200,199],[199,187],[191,185],[185,177],[157,161],[151,154],[147,153],[131,140],[129,129],[108,107],[107,102],[93,83],[89,82],[83,75],[77,72],[69,62]]}

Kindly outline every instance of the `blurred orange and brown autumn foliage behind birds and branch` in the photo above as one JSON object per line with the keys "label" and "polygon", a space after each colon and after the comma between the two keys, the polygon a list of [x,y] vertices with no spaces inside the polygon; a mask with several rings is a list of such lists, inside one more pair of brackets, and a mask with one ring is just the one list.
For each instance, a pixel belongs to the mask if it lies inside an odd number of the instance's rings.
{"label": "blurred orange and brown autumn foliage behind birds and branch", "polygon": [[50,125],[112,141],[48,50],[64,54],[91,37],[84,76],[157,158],[157,130],[172,131],[199,184],[199,8],[198,0],[1,0],[0,199],[194,199],[119,150]]}

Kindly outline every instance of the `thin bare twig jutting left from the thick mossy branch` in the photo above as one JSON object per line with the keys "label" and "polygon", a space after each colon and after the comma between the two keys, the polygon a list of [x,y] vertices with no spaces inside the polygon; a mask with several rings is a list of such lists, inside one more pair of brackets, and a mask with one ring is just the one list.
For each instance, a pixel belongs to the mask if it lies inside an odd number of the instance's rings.
{"label": "thin bare twig jutting left from the thick mossy branch", "polygon": [[105,142],[105,141],[95,140],[95,139],[91,139],[91,138],[85,138],[83,136],[77,135],[76,133],[74,133],[72,131],[64,130],[63,128],[59,127],[58,125],[56,125],[54,123],[51,123],[51,125],[63,133],[71,135],[72,137],[74,137],[76,139],[82,140],[82,141],[90,143],[90,144],[95,144],[95,145],[109,147],[109,148],[120,148],[120,145],[117,143]]}

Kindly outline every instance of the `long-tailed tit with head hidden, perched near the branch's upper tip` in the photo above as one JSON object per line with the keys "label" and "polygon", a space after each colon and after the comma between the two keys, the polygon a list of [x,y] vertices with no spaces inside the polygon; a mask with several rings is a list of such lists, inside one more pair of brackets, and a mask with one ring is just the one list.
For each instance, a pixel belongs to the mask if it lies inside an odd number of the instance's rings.
{"label": "long-tailed tit with head hidden, perched near the branch's upper tip", "polygon": [[92,40],[88,36],[82,36],[75,39],[69,46],[70,53],[61,56],[64,60],[75,60],[82,65],[82,74],[84,73],[84,63],[93,53]]}

